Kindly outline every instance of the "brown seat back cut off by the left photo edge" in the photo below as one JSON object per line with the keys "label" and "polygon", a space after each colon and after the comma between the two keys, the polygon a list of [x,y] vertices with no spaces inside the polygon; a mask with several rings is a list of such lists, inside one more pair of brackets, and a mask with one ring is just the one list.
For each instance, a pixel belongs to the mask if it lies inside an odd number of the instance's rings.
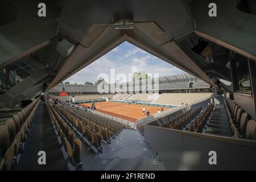
{"label": "brown seat back cut off by the left photo edge", "polygon": [[5,156],[10,146],[9,131],[6,125],[0,125],[0,157]]}

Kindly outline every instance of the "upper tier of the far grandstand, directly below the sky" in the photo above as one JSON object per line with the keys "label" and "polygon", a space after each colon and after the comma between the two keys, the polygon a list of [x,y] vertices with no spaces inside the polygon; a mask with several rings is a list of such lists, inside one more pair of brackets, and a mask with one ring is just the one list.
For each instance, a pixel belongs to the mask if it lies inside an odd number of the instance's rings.
{"label": "upper tier of the far grandstand, directly below the sky", "polygon": [[[191,90],[191,89],[209,89],[210,85],[207,82],[196,78],[188,73],[181,74],[181,75],[171,75],[171,76],[163,76],[159,78],[152,78],[150,79],[152,82],[151,87],[144,86],[144,83],[148,82],[147,80],[127,82],[125,85],[127,87],[126,90],[119,91],[118,89],[110,90],[113,88],[113,85],[106,84],[104,85],[105,93],[137,93],[139,91],[148,91],[148,92],[161,92],[166,90]],[[138,84],[140,86],[135,86]],[[118,85],[116,86],[118,87]],[[142,89],[147,88],[147,89]],[[59,93],[59,92],[69,92],[70,94],[77,94],[77,93],[98,93],[98,86],[97,85],[77,85],[77,84],[59,84],[54,86],[52,89],[48,91],[48,93]],[[114,100],[117,100],[117,96],[114,97]],[[118,98],[121,100],[123,97]]]}

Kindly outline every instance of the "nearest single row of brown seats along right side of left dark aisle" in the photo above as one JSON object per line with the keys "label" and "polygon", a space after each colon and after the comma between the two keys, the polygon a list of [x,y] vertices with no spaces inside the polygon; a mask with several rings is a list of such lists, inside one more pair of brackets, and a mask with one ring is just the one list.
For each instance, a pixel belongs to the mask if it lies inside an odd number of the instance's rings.
{"label": "nearest single row of brown seats along right side of left dark aisle", "polygon": [[82,143],[81,140],[75,137],[75,133],[71,131],[67,122],[65,122],[59,113],[47,101],[47,108],[51,119],[56,127],[57,133],[60,136],[61,143],[64,146],[68,155],[69,162],[76,168],[82,170],[81,153]]}

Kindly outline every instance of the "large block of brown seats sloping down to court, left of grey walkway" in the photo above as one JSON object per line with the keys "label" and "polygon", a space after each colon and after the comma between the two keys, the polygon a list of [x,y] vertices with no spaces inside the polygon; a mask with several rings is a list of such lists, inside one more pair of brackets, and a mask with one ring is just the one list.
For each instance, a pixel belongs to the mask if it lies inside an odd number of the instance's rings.
{"label": "large block of brown seats sloping down to court, left of grey walkway", "polygon": [[[122,129],[130,128],[128,125],[124,125],[112,119],[108,119],[84,110],[77,110],[76,107],[69,105],[52,104],[47,101],[55,110],[59,111],[73,127],[75,127],[80,133],[89,140],[89,142],[97,148],[99,152],[102,152],[101,142],[102,138],[110,143],[111,137],[114,138]],[[68,128],[66,127],[66,130]],[[66,131],[67,133],[68,131]],[[65,132],[64,132],[65,134]],[[67,134],[66,134],[67,135]]]}

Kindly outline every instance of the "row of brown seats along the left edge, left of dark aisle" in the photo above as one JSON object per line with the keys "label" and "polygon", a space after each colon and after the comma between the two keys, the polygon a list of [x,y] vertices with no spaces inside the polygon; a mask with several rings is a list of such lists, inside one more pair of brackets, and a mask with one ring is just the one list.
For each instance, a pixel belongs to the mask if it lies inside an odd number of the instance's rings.
{"label": "row of brown seats along the left edge, left of dark aisle", "polygon": [[0,125],[0,171],[16,167],[38,104],[39,98]]}

